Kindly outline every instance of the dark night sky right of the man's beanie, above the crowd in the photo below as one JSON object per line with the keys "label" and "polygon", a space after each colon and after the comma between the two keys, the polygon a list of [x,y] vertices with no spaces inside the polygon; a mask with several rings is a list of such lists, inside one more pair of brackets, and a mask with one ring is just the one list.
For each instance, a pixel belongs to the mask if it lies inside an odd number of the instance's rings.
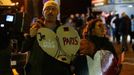
{"label": "dark night sky right of the man's beanie, above the crowd", "polygon": [[61,19],[72,13],[86,13],[89,5],[89,0],[61,0]]}

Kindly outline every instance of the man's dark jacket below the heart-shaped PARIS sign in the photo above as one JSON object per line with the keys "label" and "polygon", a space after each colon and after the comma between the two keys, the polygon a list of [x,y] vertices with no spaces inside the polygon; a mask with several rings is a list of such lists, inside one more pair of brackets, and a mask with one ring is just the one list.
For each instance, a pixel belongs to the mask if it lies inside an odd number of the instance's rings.
{"label": "man's dark jacket below the heart-shaped PARIS sign", "polygon": [[71,71],[68,64],[49,56],[39,47],[37,41],[35,41],[26,65],[26,74],[71,75]]}

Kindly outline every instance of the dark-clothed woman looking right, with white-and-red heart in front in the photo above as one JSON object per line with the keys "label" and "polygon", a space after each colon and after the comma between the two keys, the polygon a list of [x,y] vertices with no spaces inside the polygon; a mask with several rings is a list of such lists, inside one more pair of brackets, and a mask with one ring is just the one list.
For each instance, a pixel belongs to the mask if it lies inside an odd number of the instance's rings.
{"label": "dark-clothed woman looking right, with white-and-red heart in front", "polygon": [[[118,57],[114,46],[105,37],[102,20],[94,19],[89,26],[88,38],[81,40],[80,52],[74,61],[74,72],[76,75],[118,75]],[[85,61],[81,63],[82,59]]]}

